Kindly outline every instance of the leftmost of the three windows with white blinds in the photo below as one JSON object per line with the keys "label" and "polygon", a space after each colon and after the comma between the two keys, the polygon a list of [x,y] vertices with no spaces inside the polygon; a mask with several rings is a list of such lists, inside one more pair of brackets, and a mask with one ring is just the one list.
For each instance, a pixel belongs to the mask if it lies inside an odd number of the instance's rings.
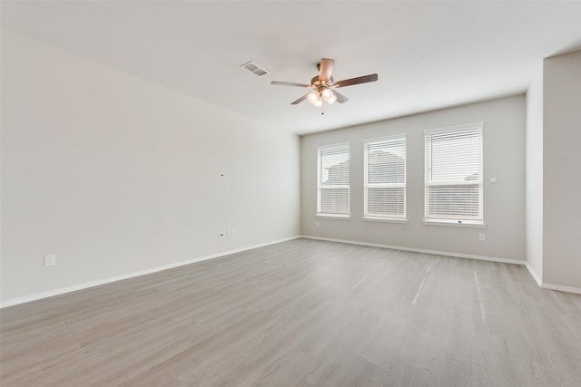
{"label": "leftmost of the three windows with white blinds", "polygon": [[317,149],[317,215],[348,218],[349,142]]}

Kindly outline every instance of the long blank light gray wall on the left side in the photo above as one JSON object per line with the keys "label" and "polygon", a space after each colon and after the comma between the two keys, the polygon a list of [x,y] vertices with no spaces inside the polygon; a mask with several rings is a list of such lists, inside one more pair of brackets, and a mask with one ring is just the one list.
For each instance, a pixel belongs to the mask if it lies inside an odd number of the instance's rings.
{"label": "long blank light gray wall on the left side", "polygon": [[299,146],[3,30],[1,300],[300,234]]}

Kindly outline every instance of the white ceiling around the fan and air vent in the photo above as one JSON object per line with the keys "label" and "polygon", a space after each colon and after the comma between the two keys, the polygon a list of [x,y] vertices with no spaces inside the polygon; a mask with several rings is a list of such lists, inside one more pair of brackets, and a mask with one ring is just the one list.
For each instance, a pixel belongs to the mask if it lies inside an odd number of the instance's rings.
{"label": "white ceiling around the fan and air vent", "polygon": [[[581,48],[579,1],[3,1],[2,24],[299,134],[525,92],[543,58]],[[379,81],[323,116],[270,84],[308,83],[321,57],[336,81]]]}

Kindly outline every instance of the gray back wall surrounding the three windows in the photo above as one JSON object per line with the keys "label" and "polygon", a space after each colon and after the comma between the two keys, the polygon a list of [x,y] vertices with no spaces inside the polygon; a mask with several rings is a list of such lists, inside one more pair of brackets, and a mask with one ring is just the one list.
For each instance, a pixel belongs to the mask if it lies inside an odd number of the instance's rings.
{"label": "gray back wall surrounding the three windows", "polygon": [[[349,109],[349,106],[345,106]],[[525,96],[474,103],[301,137],[302,234],[448,253],[525,259]],[[486,228],[427,226],[423,131],[484,121]],[[363,221],[363,146],[370,138],[408,134],[408,224]],[[351,218],[316,218],[317,146],[350,141]],[[489,182],[496,178],[497,183]],[[319,222],[319,227],[317,226]],[[478,240],[479,233],[487,240]]]}

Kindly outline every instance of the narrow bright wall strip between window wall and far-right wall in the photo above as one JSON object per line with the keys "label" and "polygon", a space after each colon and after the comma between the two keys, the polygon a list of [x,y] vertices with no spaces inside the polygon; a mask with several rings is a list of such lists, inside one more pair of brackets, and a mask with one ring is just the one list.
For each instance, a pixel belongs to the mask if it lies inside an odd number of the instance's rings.
{"label": "narrow bright wall strip between window wall and far-right wall", "polygon": [[527,91],[527,265],[543,278],[543,66]]}

